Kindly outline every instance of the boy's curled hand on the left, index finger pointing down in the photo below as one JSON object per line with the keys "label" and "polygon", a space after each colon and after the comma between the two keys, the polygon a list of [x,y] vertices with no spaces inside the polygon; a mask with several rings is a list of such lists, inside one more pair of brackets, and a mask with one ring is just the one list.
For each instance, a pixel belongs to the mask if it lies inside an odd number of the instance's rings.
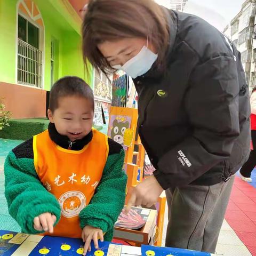
{"label": "boy's curled hand on the left, index finger pointing down", "polygon": [[49,212],[40,214],[34,219],[34,229],[37,231],[45,231],[50,234],[53,233],[53,225],[56,221],[56,216]]}

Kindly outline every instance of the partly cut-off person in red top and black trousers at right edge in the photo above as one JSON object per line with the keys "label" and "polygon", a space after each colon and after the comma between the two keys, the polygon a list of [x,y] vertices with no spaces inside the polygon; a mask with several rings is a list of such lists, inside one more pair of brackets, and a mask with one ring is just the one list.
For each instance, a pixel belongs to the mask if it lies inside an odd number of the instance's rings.
{"label": "partly cut-off person in red top and black trousers at right edge", "polygon": [[240,169],[242,180],[252,182],[251,173],[256,165],[256,87],[253,88],[251,98],[251,133],[252,149],[247,162]]}

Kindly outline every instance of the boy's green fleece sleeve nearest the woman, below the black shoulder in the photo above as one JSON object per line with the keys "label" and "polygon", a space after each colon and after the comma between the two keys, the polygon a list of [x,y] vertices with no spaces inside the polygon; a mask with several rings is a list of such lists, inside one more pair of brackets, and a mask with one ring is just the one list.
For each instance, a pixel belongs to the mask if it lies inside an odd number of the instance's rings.
{"label": "boy's green fleece sleeve nearest the woman, below the black shoulder", "polygon": [[124,207],[127,177],[123,171],[124,150],[108,156],[99,186],[89,205],[79,214],[81,228],[92,226],[104,233],[113,230]]}

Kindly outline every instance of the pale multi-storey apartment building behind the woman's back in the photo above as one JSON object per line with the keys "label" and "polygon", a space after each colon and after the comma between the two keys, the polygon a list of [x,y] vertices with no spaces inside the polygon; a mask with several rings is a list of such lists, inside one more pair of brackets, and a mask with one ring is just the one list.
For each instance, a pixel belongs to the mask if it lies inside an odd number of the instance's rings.
{"label": "pale multi-storey apartment building behind the woman's back", "polygon": [[255,0],[246,0],[241,11],[223,31],[241,52],[245,78],[250,92],[256,85],[255,6]]}

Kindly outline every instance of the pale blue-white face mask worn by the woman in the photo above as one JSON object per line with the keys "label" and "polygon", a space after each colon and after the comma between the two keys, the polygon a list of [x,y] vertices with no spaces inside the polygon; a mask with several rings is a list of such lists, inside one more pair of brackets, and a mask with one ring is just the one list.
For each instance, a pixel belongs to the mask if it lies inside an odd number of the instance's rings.
{"label": "pale blue-white face mask worn by the woman", "polygon": [[158,54],[150,51],[147,46],[143,46],[141,51],[134,56],[132,59],[127,61],[123,66],[115,65],[113,68],[123,70],[125,73],[132,78],[141,76],[153,66],[157,60]]}

